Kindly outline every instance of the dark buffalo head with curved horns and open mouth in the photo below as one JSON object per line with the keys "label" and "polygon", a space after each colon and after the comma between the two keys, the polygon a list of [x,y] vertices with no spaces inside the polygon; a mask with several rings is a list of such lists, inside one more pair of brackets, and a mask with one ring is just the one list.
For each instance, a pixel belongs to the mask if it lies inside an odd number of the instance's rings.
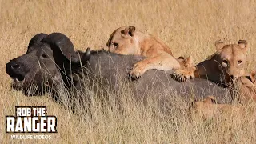
{"label": "dark buffalo head with curved horns and open mouth", "polygon": [[68,88],[76,86],[78,78],[75,77],[79,77],[89,58],[89,48],[86,53],[75,51],[64,34],[36,34],[30,40],[26,54],[6,64],[6,73],[13,78],[14,89],[23,90],[25,94],[31,91],[43,94],[60,84]]}

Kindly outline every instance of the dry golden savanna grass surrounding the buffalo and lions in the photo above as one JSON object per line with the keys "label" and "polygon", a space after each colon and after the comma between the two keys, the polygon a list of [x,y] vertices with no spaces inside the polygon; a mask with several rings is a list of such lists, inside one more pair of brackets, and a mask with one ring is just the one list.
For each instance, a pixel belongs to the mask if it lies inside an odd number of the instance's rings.
{"label": "dry golden savanna grass surrounding the buffalo and lions", "polygon": [[[114,102],[102,110],[95,101],[92,118],[70,113],[49,95],[26,97],[10,89],[6,62],[24,54],[34,34],[62,32],[78,50],[99,49],[113,30],[129,25],[161,38],[175,57],[191,55],[196,63],[214,53],[218,39],[246,39],[246,70],[255,69],[255,1],[0,0],[0,143],[256,143],[256,118],[250,114],[222,114],[206,121],[191,120],[175,109],[168,116],[153,114],[158,111],[154,102],[134,106],[124,90],[116,95],[127,101],[123,114]],[[50,140],[11,140],[5,116],[14,115],[14,106],[47,106],[48,114],[58,118],[58,133],[50,134]]]}

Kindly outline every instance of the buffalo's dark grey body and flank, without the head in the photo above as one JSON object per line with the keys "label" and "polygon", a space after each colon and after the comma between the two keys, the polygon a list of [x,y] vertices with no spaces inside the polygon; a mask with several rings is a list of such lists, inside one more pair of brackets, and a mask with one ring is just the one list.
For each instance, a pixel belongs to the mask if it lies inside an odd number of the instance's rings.
{"label": "buffalo's dark grey body and flank, without the head", "polygon": [[[134,63],[142,60],[140,56],[125,56],[110,54],[104,51],[94,52],[90,55],[88,70],[91,75],[100,75],[104,85],[111,90],[120,90],[121,81],[128,78],[129,70]],[[230,103],[230,90],[216,85],[206,79],[194,78],[188,82],[177,82],[170,78],[172,71],[148,70],[138,80],[131,81],[131,88],[136,97],[154,96],[163,101],[174,96],[185,100],[202,100],[214,95],[217,101]],[[97,77],[97,76],[96,76]],[[94,77],[95,78],[95,77]],[[98,77],[97,77],[98,78]]]}

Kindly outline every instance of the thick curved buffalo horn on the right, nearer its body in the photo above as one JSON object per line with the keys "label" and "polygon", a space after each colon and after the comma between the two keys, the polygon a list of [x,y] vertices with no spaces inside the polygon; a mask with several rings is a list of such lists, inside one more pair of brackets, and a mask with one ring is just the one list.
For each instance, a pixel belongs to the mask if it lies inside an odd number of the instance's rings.
{"label": "thick curved buffalo horn on the right, nearer its body", "polygon": [[74,51],[73,43],[70,38],[61,33],[52,33],[42,40],[53,50],[54,59],[64,56],[70,62],[79,62],[78,54]]}

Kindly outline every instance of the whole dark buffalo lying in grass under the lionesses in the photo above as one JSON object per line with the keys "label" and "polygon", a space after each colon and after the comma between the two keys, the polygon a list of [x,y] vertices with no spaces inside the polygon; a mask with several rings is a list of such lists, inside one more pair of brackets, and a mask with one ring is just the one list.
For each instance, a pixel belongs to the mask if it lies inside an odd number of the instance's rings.
{"label": "whole dark buffalo lying in grass under the lionesses", "polygon": [[[98,84],[94,84],[97,78],[101,79],[98,83],[104,90],[117,92],[123,88],[122,80],[127,81],[134,63],[142,58],[105,51],[90,52],[90,49],[83,53],[75,51],[64,34],[37,34],[30,40],[26,54],[6,64],[6,72],[14,79],[14,89],[23,90],[28,95],[51,91],[53,95],[62,97],[63,84],[73,92],[82,91],[88,85],[97,89]],[[136,98],[153,96],[168,102],[166,99],[174,96],[187,100],[214,95],[218,102],[231,101],[229,90],[213,82],[195,78],[179,83],[170,78],[170,71],[149,70],[142,78],[127,82]]]}

